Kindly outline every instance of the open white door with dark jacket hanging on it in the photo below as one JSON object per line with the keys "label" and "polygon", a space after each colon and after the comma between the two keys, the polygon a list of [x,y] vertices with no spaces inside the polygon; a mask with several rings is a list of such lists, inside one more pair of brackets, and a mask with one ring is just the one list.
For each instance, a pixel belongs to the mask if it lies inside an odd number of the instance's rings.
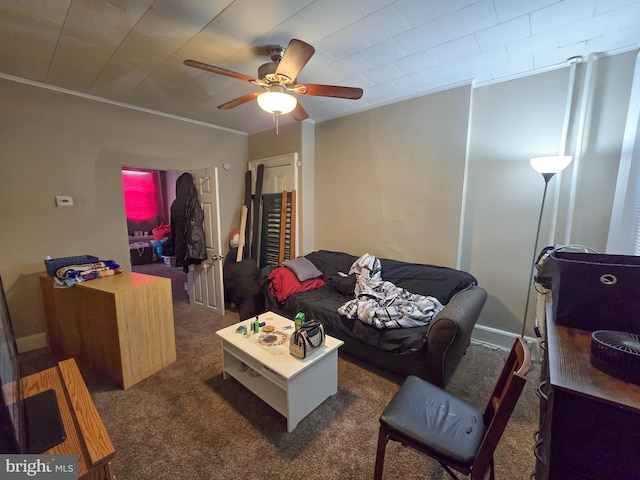
{"label": "open white door with dark jacket hanging on it", "polygon": [[189,303],[224,315],[218,167],[192,170],[190,173],[204,212],[207,259],[200,265],[189,265]]}

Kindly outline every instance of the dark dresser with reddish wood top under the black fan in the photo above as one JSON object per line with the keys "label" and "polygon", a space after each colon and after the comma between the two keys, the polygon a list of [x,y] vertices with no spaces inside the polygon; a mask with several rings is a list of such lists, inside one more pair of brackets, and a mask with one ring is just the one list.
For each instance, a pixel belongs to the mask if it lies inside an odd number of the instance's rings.
{"label": "dark dresser with reddish wood top under the black fan", "polygon": [[536,480],[640,478],[640,385],[590,363],[591,332],[555,325],[546,304]]}

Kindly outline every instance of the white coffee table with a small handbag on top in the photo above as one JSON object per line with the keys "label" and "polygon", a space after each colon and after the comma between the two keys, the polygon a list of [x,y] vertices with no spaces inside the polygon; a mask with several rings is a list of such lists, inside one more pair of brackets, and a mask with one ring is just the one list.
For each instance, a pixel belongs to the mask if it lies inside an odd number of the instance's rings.
{"label": "white coffee table with a small handbag on top", "polygon": [[[254,319],[251,319],[254,320]],[[287,419],[291,432],[300,420],[338,391],[338,348],[344,343],[326,336],[325,344],[305,359],[289,354],[293,322],[272,312],[259,316],[260,322],[275,327],[280,345],[259,342],[263,332],[245,337],[236,329],[245,320],[218,330],[222,339],[223,378],[232,376]],[[285,339],[286,337],[286,339]],[[276,342],[277,343],[277,342]]]}

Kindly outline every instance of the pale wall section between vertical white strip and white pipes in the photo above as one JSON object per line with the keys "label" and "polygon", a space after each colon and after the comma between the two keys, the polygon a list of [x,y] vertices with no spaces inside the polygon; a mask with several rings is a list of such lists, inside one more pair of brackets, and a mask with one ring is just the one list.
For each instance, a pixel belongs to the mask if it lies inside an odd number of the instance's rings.
{"label": "pale wall section between vertical white strip and white pipes", "polygon": [[544,189],[529,158],[558,152],[567,81],[564,69],[474,92],[463,269],[489,294],[480,323],[500,330],[521,329]]}

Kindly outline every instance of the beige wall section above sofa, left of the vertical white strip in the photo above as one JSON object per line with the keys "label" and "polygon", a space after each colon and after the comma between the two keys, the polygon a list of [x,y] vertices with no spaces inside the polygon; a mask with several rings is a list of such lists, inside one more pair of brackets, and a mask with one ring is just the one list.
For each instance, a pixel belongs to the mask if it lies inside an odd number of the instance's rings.
{"label": "beige wall section above sofa, left of the vertical white strip", "polygon": [[317,125],[315,247],[455,267],[470,94]]}

